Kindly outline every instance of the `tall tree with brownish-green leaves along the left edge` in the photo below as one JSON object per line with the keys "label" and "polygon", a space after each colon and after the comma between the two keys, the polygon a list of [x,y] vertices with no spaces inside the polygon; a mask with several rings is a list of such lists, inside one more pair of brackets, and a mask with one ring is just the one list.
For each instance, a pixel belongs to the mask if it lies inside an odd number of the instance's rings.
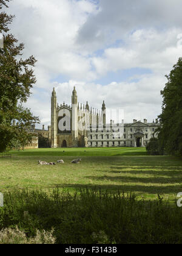
{"label": "tall tree with brownish-green leaves along the left edge", "polygon": [[[10,0],[0,0],[0,9],[8,7]],[[21,58],[24,44],[8,34],[8,24],[12,23],[12,15],[0,13],[0,33],[4,36],[4,47],[0,49],[0,151],[7,147],[21,148],[31,140],[27,132],[31,124],[38,123],[28,108],[22,104],[30,96],[30,89],[35,84],[32,67],[36,60],[33,56]],[[13,125],[13,119],[16,125]]]}

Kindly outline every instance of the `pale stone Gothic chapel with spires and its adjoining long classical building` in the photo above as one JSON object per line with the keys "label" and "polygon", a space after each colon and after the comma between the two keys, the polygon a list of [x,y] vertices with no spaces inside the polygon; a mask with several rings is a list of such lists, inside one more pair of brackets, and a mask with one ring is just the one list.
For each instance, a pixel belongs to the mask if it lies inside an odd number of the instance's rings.
{"label": "pale stone Gothic chapel with spires and its adjoining long classical building", "polygon": [[106,105],[101,111],[78,103],[74,87],[72,105],[59,105],[53,88],[51,98],[51,126],[48,137],[52,148],[66,147],[144,147],[160,126],[157,119],[147,123],[133,119],[133,123],[106,124]]}

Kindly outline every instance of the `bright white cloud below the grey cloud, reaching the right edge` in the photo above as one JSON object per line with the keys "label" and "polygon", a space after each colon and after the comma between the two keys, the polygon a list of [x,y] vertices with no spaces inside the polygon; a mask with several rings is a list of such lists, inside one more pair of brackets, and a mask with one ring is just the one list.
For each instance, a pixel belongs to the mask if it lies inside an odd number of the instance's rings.
{"label": "bright white cloud below the grey cloud, reaching the right edge", "polygon": [[93,57],[92,62],[99,75],[109,71],[130,68],[149,68],[165,75],[181,54],[177,36],[180,29],[164,32],[157,30],[136,30],[129,35],[126,44],[118,48],[107,48],[102,57]]}

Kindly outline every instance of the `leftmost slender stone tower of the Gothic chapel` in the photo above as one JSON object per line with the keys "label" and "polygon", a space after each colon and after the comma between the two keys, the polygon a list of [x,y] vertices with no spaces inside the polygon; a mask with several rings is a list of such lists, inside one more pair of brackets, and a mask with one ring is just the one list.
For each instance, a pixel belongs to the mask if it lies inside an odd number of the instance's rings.
{"label": "leftmost slender stone tower of the Gothic chapel", "polygon": [[57,148],[57,97],[55,88],[51,97],[51,146]]}

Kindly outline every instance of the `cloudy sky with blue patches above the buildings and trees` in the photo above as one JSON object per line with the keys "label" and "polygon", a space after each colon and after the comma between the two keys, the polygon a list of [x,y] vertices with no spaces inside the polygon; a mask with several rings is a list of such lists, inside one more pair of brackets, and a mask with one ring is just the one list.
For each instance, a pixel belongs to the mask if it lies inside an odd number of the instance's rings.
{"label": "cloudy sky with blue patches above the buildings and trees", "polygon": [[[181,0],[13,0],[10,32],[33,55],[36,84],[25,104],[50,125],[50,97],[123,109],[124,121],[161,113],[163,90],[182,51]],[[109,116],[107,121],[109,121]],[[41,127],[38,125],[37,127]]]}

